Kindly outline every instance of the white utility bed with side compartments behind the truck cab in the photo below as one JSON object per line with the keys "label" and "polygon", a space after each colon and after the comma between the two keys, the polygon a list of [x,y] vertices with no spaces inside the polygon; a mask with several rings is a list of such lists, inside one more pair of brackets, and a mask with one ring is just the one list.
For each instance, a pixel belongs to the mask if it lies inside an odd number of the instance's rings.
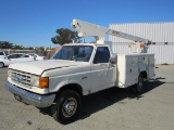
{"label": "white utility bed with side compartments behind the truck cab", "polygon": [[146,78],[154,75],[154,54],[117,54],[117,75],[115,86],[126,88],[138,81],[140,72],[147,72]]}

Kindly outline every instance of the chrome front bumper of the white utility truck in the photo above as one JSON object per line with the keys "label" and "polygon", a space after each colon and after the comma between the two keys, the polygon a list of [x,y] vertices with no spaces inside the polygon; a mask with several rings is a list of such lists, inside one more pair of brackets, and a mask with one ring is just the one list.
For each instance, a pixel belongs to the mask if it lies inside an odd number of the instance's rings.
{"label": "chrome front bumper of the white utility truck", "polygon": [[11,93],[17,95],[16,100],[29,105],[34,105],[36,107],[48,107],[53,103],[55,99],[55,94],[35,94],[24,89],[17,88],[11,84],[10,82],[5,82],[5,86],[8,87]]}

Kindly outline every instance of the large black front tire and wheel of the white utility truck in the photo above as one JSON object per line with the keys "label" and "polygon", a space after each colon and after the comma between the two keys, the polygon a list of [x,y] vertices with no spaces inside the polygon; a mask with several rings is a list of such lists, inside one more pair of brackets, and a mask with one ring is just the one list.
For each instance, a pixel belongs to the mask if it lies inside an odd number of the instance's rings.
{"label": "large black front tire and wheel of the white utility truck", "polygon": [[73,90],[64,90],[55,100],[55,104],[51,106],[52,117],[63,123],[74,121],[79,115],[82,100],[77,92]]}

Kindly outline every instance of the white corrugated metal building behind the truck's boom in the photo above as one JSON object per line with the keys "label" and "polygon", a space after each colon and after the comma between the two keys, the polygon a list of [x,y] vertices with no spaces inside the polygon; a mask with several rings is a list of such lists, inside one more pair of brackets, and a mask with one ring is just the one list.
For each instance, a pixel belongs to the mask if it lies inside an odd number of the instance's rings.
{"label": "white corrugated metal building behind the truck's boom", "polygon": [[[110,28],[149,39],[152,44],[148,53],[156,54],[156,64],[174,64],[174,22],[110,24]],[[133,43],[115,36],[109,36],[109,40],[113,42],[114,53],[128,53],[128,44]]]}

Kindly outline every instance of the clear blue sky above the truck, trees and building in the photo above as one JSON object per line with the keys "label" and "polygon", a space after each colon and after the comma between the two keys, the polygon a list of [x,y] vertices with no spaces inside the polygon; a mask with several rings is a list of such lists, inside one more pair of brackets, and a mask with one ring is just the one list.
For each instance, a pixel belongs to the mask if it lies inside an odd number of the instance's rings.
{"label": "clear blue sky above the truck, trees and building", "polygon": [[54,47],[58,28],[73,18],[109,27],[116,23],[174,22],[174,0],[0,0],[0,41]]}

